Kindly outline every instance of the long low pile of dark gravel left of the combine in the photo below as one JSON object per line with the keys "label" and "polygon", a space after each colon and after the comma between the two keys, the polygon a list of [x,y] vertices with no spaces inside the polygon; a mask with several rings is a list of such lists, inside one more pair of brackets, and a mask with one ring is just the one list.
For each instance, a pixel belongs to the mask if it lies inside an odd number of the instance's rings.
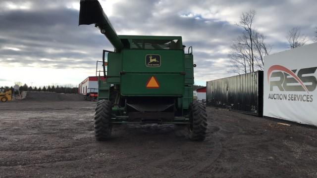
{"label": "long low pile of dark gravel left of the combine", "polygon": [[28,101],[83,101],[81,94],[65,94],[46,91],[28,91],[23,100]]}

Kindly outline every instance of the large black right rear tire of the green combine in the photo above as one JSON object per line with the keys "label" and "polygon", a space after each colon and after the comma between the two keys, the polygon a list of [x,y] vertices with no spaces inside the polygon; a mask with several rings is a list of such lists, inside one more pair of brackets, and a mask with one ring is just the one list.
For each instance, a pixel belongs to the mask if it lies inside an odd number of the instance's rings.
{"label": "large black right rear tire of the green combine", "polygon": [[207,132],[207,113],[203,103],[194,101],[190,107],[189,138],[193,141],[204,141]]}

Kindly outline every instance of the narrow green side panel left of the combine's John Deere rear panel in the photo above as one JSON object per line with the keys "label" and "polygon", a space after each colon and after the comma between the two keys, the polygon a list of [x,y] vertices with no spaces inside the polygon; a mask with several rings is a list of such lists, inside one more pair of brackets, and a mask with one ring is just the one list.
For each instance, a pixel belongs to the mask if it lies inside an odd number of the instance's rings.
{"label": "narrow green side panel left of the combine's John Deere rear panel", "polygon": [[107,66],[107,83],[119,84],[120,72],[122,71],[121,53],[109,52]]}

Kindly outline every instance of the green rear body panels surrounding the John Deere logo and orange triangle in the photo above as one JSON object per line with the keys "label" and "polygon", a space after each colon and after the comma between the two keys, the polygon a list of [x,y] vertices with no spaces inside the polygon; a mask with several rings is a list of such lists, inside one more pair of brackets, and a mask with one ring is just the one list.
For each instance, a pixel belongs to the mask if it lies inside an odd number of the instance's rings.
{"label": "green rear body panels surrounding the John Deere logo and orange triangle", "polygon": [[[184,51],[183,50],[122,50],[121,94],[142,96],[182,96],[184,92]],[[147,55],[160,58],[158,67],[148,67]],[[146,87],[149,79],[155,76],[159,88]]]}

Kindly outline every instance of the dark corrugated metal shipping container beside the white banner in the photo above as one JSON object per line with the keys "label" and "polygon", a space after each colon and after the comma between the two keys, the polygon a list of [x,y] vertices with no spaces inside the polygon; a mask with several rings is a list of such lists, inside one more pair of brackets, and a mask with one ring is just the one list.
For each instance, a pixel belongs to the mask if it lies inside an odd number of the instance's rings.
{"label": "dark corrugated metal shipping container beside the white banner", "polygon": [[207,106],[263,116],[263,71],[207,82]]}

